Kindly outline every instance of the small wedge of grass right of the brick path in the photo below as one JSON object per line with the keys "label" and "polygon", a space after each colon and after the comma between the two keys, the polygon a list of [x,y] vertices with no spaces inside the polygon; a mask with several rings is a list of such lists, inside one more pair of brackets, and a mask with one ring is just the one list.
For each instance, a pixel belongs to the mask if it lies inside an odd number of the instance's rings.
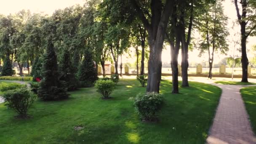
{"label": "small wedge of grass right of the brick path", "polygon": [[246,110],[250,116],[251,125],[256,132],[256,86],[242,88],[240,90]]}

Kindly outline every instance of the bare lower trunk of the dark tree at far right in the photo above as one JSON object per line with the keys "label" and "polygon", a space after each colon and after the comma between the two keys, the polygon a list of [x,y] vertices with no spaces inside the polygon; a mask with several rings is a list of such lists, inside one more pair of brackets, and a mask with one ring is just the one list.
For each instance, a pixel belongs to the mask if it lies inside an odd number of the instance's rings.
{"label": "bare lower trunk of the dark tree at far right", "polygon": [[243,75],[242,75],[242,81],[241,82],[248,82],[248,58],[246,54],[246,38],[242,35],[241,38],[241,46],[242,46],[242,70],[243,70]]}

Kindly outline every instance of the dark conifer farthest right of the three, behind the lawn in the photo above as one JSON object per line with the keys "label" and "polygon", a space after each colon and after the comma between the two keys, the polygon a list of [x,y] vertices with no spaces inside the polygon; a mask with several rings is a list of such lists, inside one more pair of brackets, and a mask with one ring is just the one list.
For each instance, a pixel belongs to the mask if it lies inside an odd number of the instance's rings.
{"label": "dark conifer farthest right of the three, behind the lawn", "polygon": [[93,62],[91,49],[86,48],[84,58],[79,68],[79,80],[95,82],[97,77],[97,70]]}

